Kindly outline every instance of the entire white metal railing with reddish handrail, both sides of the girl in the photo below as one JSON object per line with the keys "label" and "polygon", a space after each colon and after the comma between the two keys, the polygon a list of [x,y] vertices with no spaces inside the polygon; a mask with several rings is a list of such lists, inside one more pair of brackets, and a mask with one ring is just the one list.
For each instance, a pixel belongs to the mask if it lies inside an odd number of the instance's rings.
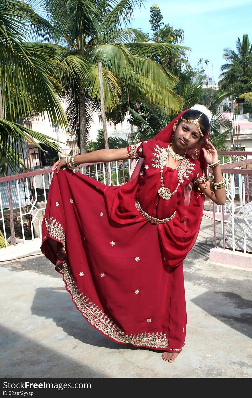
{"label": "entire white metal railing with reddish handrail, both sides of the girl", "polygon": [[[252,252],[252,239],[248,239],[252,237],[252,168],[249,168],[252,165],[252,152],[221,151],[218,154],[223,160],[221,169],[226,179],[227,202],[219,206],[207,198],[204,209],[205,214],[213,219],[214,246],[233,251],[242,250],[244,253]],[[134,165],[130,160],[111,162],[111,185],[127,182]],[[82,166],[82,171],[85,170],[87,176],[107,182],[104,163]],[[0,178],[0,230],[4,234],[5,247],[7,236],[12,237],[15,245],[16,237],[20,239],[18,242],[41,238],[41,222],[51,179],[51,169]],[[241,224],[242,236],[238,233]]]}

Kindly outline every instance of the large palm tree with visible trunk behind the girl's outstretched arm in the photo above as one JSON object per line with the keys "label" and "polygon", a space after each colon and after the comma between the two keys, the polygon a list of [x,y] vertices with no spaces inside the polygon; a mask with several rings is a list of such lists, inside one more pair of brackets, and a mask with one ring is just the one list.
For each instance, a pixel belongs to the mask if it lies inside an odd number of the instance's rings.
{"label": "large palm tree with visible trunk behind the girl's outstretched arm", "polygon": [[[150,58],[172,49],[186,48],[167,43],[148,43],[138,29],[123,27],[133,18],[135,6],[143,0],[35,0],[53,25],[55,38],[71,51],[68,57],[86,62],[85,78],[65,80],[70,135],[78,137],[86,152],[88,129],[94,111],[100,109],[98,61],[102,62],[105,110],[119,103],[119,94],[129,90],[131,100],[145,100],[180,109],[182,99],[174,93],[176,77]],[[64,59],[67,61],[67,58]],[[56,75],[55,75],[56,76]]]}

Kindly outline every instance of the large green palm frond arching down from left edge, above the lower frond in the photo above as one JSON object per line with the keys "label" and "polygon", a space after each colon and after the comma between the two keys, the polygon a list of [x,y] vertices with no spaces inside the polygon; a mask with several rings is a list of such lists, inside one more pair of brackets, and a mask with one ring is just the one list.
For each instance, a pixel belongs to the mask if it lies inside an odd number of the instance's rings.
{"label": "large green palm frond arching down from left edge, above the lower frond", "polygon": [[54,123],[66,125],[64,111],[55,92],[56,86],[57,94],[62,88],[44,73],[49,57],[46,51],[43,57],[38,48],[35,58],[30,49],[15,33],[0,26],[0,84],[4,115],[8,112],[15,120],[22,117],[25,109],[25,115],[32,117],[47,113]]}

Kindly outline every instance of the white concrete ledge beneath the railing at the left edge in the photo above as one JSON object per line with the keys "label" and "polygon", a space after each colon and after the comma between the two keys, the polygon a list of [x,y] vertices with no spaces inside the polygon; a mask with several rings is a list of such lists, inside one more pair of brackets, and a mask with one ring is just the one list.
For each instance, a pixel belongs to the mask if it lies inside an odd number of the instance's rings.
{"label": "white concrete ledge beneath the railing at the left edge", "polygon": [[25,243],[17,243],[17,246],[8,246],[8,248],[0,249],[0,261],[10,261],[31,254],[42,254],[40,251],[41,239],[25,240]]}

